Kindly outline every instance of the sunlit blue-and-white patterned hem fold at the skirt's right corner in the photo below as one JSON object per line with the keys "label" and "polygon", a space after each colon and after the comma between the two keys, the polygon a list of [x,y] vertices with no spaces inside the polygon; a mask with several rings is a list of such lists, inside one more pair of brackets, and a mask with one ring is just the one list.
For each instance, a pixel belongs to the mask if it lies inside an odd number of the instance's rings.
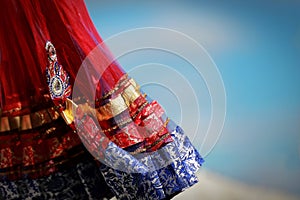
{"label": "sunlit blue-and-white patterned hem fold at the skirt's right corner", "polygon": [[195,172],[204,160],[179,126],[171,135],[173,142],[148,154],[133,156],[108,145],[101,171],[117,199],[166,199],[198,182]]}

